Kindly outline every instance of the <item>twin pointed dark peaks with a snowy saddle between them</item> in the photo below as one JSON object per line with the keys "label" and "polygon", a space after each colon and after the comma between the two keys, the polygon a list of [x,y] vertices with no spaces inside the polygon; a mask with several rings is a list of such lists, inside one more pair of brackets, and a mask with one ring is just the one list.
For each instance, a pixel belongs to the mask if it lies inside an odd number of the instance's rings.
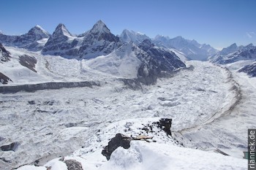
{"label": "twin pointed dark peaks with a snowy saddle between them", "polygon": [[108,55],[120,46],[119,38],[111,34],[105,23],[99,20],[90,31],[80,36],[72,36],[63,24],[59,24],[42,53],[61,55],[65,58],[89,59]]}

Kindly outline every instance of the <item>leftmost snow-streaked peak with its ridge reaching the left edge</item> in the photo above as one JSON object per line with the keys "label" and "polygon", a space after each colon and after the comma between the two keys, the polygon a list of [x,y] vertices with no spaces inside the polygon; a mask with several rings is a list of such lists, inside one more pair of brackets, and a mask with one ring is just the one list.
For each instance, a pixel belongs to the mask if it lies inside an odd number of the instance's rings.
{"label": "leftmost snow-streaked peak with its ridge reaching the left edge", "polygon": [[50,34],[40,26],[31,28],[27,34],[20,36],[9,36],[0,34],[0,42],[7,46],[22,47],[28,50],[42,50]]}

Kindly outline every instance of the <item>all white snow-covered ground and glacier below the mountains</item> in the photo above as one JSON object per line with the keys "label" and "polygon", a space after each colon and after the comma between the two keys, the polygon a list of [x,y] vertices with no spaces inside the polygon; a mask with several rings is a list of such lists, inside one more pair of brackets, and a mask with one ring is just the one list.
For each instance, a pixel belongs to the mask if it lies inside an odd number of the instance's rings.
{"label": "all white snow-covered ground and glacier below the mountains", "polygon": [[[247,150],[246,132],[256,128],[256,79],[237,70],[248,61],[228,64],[227,69],[186,61],[194,69],[182,69],[155,85],[130,90],[118,78],[135,77],[140,62],[132,50],[124,54],[119,49],[82,61],[15,47],[7,50],[12,58],[0,63],[0,72],[10,77],[10,85],[92,80],[101,86],[1,93],[0,146],[20,145],[15,152],[0,152],[5,160],[0,160],[0,169],[34,165],[37,160],[39,167],[19,169],[67,169],[59,156],[92,170],[246,169],[242,159]],[[37,59],[37,73],[20,65],[18,56],[24,54]],[[148,133],[142,130],[162,117],[173,119],[171,131],[178,142],[157,127]],[[132,142],[128,150],[118,148],[107,161],[102,148],[117,133],[153,139]]]}

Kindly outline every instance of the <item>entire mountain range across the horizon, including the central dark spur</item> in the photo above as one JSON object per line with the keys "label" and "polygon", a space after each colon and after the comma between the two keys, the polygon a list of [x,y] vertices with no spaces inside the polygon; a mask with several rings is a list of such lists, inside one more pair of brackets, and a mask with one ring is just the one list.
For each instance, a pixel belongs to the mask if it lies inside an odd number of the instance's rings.
{"label": "entire mountain range across the horizon, including the central dark spur", "polygon": [[[95,64],[100,66],[109,65],[108,58],[112,58],[112,60],[116,58],[119,61],[115,63],[117,66],[115,68],[118,68],[117,70],[120,71],[118,74],[122,73],[124,77],[132,75],[134,78],[135,73],[127,73],[128,71],[121,69],[118,64],[122,63],[123,68],[126,64],[129,66],[134,64],[136,78],[141,75],[145,78],[147,74],[144,74],[142,70],[147,69],[150,78],[140,79],[146,84],[154,82],[162,72],[173,72],[174,69],[184,67],[184,61],[189,59],[226,64],[244,59],[255,60],[256,58],[256,47],[252,44],[245,47],[233,44],[218,51],[210,45],[201,45],[194,39],[184,39],[182,36],[170,39],[168,36],[157,35],[151,39],[146,34],[127,29],[124,29],[120,36],[115,36],[102,20],[95,23],[89,31],[79,35],[71,34],[62,23],[56,27],[53,34],[49,34],[40,26],[35,26],[27,34],[20,36],[8,36],[0,33],[0,43],[30,51],[40,51],[42,55],[60,55],[64,58],[78,60],[95,59]],[[7,61],[4,56],[6,55],[1,57],[1,61]],[[99,56],[105,57],[98,58]],[[130,56],[129,60],[127,56]],[[130,60],[131,56],[135,56],[136,59]],[[102,63],[103,61],[107,63]],[[124,61],[134,63],[125,63]],[[96,69],[106,69],[99,68],[99,65],[95,64],[91,64],[91,66]],[[108,72],[113,71],[108,70]]]}

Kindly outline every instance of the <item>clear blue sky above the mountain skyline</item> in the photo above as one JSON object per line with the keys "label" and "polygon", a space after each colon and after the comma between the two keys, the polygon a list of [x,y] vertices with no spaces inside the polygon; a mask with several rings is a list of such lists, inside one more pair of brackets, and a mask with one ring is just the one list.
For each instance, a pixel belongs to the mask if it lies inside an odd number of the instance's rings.
{"label": "clear blue sky above the mountain skyline", "polygon": [[64,23],[72,34],[103,20],[113,34],[124,28],[150,37],[183,36],[216,48],[256,45],[255,0],[0,0],[0,30],[25,34],[39,25],[53,33]]}

